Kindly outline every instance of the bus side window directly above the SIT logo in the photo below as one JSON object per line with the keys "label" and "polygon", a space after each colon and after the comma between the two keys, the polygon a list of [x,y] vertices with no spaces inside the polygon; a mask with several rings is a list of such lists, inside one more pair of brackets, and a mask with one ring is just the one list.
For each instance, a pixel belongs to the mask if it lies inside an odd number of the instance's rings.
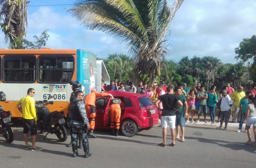
{"label": "bus side window directly above the SIT logo", "polygon": [[39,56],[38,81],[60,83],[71,80],[73,75],[73,56]]}

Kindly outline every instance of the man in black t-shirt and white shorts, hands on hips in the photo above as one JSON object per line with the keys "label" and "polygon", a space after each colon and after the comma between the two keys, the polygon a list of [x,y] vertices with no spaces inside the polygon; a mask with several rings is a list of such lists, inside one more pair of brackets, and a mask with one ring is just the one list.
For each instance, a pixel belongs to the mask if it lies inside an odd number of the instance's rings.
{"label": "man in black t-shirt and white shorts, hands on hips", "polygon": [[[175,146],[175,120],[176,120],[176,114],[175,111],[178,111],[182,107],[181,101],[173,95],[173,87],[168,86],[167,87],[167,94],[161,95],[155,102],[155,106],[158,108],[158,110],[162,111],[162,117],[161,117],[161,126],[163,128],[163,143],[160,143],[159,145],[162,147],[166,147],[166,134],[167,134],[167,125],[169,125],[171,130],[171,136],[173,142],[170,144],[171,146]],[[162,102],[163,109],[159,108],[159,104]],[[175,104],[178,104],[179,107],[175,109]]]}

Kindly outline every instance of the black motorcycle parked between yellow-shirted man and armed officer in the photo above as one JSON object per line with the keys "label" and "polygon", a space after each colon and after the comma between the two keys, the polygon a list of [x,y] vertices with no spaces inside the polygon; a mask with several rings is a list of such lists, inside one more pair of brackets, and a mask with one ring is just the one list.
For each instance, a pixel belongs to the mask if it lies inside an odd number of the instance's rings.
{"label": "black motorcycle parked between yellow-shirted man and armed officer", "polygon": [[[48,100],[53,98],[49,96]],[[47,106],[48,104],[53,104],[53,101],[37,101],[36,106],[36,117],[37,117],[37,126],[40,129],[40,133],[43,134],[47,132],[45,137],[50,134],[55,134],[61,142],[67,140],[67,130],[64,127],[64,111],[58,112],[53,111],[50,113]],[[45,137],[43,139],[45,139]]]}

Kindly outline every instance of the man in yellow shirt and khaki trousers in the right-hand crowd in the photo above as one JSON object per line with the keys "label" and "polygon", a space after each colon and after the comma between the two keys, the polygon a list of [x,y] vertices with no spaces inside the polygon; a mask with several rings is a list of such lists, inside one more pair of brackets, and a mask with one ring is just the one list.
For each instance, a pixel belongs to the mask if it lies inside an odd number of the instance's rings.
{"label": "man in yellow shirt and khaki trousers in the right-hand crowd", "polygon": [[240,122],[240,100],[245,97],[245,92],[244,92],[244,88],[242,86],[239,86],[238,87],[238,91],[234,91],[231,95],[230,95],[230,98],[235,102],[234,105],[235,105],[235,108],[234,108],[234,112],[233,112],[233,119],[232,119],[232,122],[236,122],[236,119],[237,119],[237,122]]}

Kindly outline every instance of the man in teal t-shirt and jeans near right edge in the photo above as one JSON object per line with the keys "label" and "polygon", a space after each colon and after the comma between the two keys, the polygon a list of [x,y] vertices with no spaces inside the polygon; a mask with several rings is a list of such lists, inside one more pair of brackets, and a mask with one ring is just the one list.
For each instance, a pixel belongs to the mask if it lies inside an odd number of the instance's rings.
{"label": "man in teal t-shirt and jeans near right edge", "polygon": [[[237,130],[237,132],[242,131],[243,120],[244,120],[244,117],[245,117],[245,113],[247,111],[247,105],[249,104],[248,97],[250,95],[251,95],[251,93],[249,91],[247,91],[245,93],[245,97],[242,98],[239,102],[239,113],[241,113],[241,117],[240,117],[240,122],[239,122],[239,129]],[[245,127],[245,132],[246,132],[246,127]]]}

